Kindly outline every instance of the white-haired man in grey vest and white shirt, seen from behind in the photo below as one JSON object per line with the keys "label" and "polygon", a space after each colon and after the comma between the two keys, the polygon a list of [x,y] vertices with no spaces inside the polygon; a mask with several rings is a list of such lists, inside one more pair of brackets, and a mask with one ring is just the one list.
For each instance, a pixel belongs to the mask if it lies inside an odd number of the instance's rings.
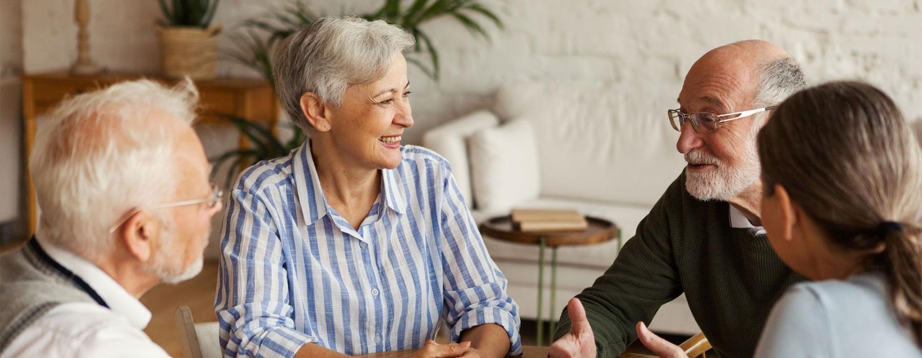
{"label": "white-haired man in grey vest and white shirt, seen from behind", "polygon": [[220,191],[195,87],[140,80],[63,102],[30,157],[38,232],[0,258],[0,356],[163,357],[138,298],[202,269]]}

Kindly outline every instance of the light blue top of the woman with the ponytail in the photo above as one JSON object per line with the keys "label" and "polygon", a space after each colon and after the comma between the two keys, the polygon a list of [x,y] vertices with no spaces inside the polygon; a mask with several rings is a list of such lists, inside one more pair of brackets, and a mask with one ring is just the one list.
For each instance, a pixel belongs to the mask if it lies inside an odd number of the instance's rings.
{"label": "light blue top of the woman with the ponytail", "polygon": [[755,357],[922,357],[896,321],[883,276],[798,283],[772,308]]}

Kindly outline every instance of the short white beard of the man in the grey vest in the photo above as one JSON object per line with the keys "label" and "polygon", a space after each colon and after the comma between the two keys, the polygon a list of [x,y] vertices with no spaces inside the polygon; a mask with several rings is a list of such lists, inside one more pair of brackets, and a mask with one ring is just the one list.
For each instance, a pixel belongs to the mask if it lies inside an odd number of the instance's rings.
{"label": "short white beard of the man in the grey vest", "polygon": [[[161,231],[162,236],[160,237],[160,245],[157,248],[157,252],[154,252],[153,258],[150,260],[149,265],[145,268],[145,271],[152,273],[158,278],[162,283],[181,283],[185,280],[195,277],[199,272],[202,271],[202,267],[205,263],[205,258],[202,256],[202,249],[198,251],[198,258],[195,259],[188,267],[183,268],[183,255],[179,255],[178,252],[173,250],[173,247],[176,245],[175,235],[172,230],[172,227],[165,227]],[[210,237],[211,231],[205,234],[205,239]]]}

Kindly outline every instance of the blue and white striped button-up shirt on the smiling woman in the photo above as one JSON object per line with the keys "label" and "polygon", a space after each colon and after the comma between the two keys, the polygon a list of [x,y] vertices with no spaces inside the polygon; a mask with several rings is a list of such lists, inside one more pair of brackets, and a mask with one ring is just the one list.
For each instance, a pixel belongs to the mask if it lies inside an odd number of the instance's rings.
{"label": "blue and white striped button-up shirt on the smiling woman", "polygon": [[418,146],[383,169],[358,230],[325,200],[305,143],[245,170],[231,191],[215,310],[225,356],[290,357],[305,343],[346,354],[420,348],[439,320],[506,329],[518,306],[442,156]]}

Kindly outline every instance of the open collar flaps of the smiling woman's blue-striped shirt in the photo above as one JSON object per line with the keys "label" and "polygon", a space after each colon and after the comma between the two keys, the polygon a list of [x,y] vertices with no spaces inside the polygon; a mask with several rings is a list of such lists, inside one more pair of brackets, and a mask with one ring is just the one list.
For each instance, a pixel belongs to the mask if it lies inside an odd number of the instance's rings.
{"label": "open collar flaps of the smiling woman's blue-striped shirt", "polygon": [[[301,203],[304,219],[308,225],[313,225],[321,217],[324,217],[328,210],[324,190],[321,188],[320,178],[317,176],[317,167],[313,163],[310,142],[310,140],[304,141],[304,144],[301,144],[301,147],[295,152],[294,175],[298,200]],[[407,200],[397,181],[396,170],[381,169],[381,171],[385,204],[397,214],[404,214],[407,208]]]}

